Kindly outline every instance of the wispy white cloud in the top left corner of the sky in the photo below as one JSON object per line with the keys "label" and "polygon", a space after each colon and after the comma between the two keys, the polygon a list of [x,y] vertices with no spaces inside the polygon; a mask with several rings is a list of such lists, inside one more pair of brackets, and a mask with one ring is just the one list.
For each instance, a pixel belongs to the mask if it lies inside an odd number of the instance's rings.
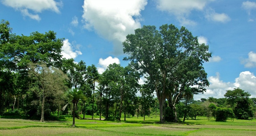
{"label": "wispy white cloud in the top left corner of the sky", "polygon": [[32,14],[29,10],[35,13],[41,13],[44,10],[51,10],[56,13],[60,13],[58,6],[62,5],[61,2],[56,2],[54,0],[2,0],[2,3],[20,11],[23,16],[28,16],[31,19],[38,21],[40,20],[39,15]]}

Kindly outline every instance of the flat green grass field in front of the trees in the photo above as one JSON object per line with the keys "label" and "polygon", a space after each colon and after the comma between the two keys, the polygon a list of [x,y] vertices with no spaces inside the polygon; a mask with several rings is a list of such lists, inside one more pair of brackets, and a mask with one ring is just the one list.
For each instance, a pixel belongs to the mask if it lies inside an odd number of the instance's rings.
{"label": "flat green grass field in front of the trees", "polygon": [[[91,116],[86,116],[91,118]],[[94,118],[98,118],[94,116]],[[121,118],[124,120],[124,118]],[[76,128],[72,128],[72,118],[63,121],[45,121],[0,118],[0,136],[255,136],[256,119],[227,120],[215,122],[199,117],[184,123],[158,124],[159,118],[126,118],[126,121],[102,121],[76,119]]]}

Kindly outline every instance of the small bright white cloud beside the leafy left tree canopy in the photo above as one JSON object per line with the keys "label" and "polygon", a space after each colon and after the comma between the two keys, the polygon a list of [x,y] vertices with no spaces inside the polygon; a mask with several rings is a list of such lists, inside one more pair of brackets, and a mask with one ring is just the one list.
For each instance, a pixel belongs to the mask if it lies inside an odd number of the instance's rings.
{"label": "small bright white cloud beside the leafy left tree canopy", "polygon": [[62,52],[61,55],[63,55],[63,58],[76,58],[78,55],[82,55],[81,51],[74,51],[73,46],[69,43],[68,39],[65,39],[63,41],[63,46],[61,48]]}

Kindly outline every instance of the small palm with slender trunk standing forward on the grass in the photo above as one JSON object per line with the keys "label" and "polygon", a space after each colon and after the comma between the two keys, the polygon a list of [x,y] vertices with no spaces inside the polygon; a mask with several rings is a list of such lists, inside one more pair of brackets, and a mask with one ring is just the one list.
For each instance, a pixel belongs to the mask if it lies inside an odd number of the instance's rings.
{"label": "small palm with slender trunk standing forward on the grass", "polygon": [[75,88],[73,89],[70,89],[69,92],[68,92],[68,97],[70,100],[72,100],[72,103],[73,103],[73,124],[72,126],[74,127],[75,126],[75,105],[77,105],[78,101],[80,99],[83,99],[84,98],[84,95],[83,95],[83,91],[82,90],[77,90]]}

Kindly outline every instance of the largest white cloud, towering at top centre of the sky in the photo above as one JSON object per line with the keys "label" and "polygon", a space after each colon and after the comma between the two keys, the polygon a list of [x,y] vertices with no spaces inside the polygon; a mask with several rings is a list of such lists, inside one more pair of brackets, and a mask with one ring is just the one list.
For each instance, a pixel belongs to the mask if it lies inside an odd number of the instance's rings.
{"label": "largest white cloud, towering at top centre of the sky", "polygon": [[146,4],[147,0],[84,0],[84,27],[113,41],[114,53],[122,54],[126,35],[141,27],[140,11]]}

